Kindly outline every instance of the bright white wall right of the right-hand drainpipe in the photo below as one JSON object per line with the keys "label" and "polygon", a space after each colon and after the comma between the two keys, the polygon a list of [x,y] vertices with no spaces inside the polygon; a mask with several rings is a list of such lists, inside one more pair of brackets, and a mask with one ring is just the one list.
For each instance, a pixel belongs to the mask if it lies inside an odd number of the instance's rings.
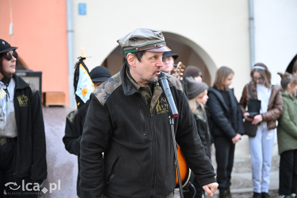
{"label": "bright white wall right of the right-hand drainpipe", "polygon": [[297,54],[297,1],[257,0],[255,8],[255,61],[263,62],[280,84],[277,72],[284,73]]}

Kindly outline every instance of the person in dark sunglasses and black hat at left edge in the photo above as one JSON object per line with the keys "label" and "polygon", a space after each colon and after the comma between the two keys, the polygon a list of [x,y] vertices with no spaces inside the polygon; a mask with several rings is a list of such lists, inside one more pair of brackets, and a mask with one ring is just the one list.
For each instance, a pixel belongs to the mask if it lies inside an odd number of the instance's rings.
{"label": "person in dark sunglasses and black hat at left edge", "polygon": [[15,75],[16,49],[0,39],[0,198],[37,197],[47,177],[40,93]]}

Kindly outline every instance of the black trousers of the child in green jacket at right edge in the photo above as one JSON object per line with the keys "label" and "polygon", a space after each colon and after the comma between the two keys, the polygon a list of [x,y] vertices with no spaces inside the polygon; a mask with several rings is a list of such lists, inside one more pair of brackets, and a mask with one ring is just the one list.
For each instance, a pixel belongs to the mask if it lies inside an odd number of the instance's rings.
{"label": "black trousers of the child in green jacket at right edge", "polygon": [[279,194],[297,193],[297,149],[280,154]]}

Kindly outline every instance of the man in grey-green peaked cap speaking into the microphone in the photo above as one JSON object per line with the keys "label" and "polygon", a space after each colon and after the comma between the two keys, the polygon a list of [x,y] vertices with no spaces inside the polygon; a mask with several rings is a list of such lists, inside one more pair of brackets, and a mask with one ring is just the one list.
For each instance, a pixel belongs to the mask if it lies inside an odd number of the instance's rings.
{"label": "man in grey-green peaked cap speaking into the microphone", "polygon": [[[126,54],[125,63],[90,96],[80,142],[80,196],[173,197],[176,166],[170,111],[157,79],[162,54],[170,49],[162,32],[153,29],[136,29],[117,42]],[[176,142],[212,197],[218,187],[214,168],[181,83],[167,77],[179,114],[174,118]]]}

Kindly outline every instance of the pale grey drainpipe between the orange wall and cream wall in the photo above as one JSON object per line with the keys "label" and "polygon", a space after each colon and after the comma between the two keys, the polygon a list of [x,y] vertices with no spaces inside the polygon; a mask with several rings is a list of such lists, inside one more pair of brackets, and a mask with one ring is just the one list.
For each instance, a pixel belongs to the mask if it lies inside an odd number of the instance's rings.
{"label": "pale grey drainpipe between the orange wall and cream wall", "polygon": [[68,42],[68,91],[69,106],[75,107],[74,101],[74,61],[73,61],[73,16],[72,16],[72,0],[67,0],[67,42]]}

